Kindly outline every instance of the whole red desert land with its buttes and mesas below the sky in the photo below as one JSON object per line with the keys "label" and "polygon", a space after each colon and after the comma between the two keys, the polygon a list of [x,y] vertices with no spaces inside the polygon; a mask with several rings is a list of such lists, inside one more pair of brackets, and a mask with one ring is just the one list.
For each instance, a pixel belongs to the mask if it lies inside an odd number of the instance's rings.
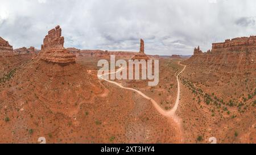
{"label": "whole red desert land with its buttes and mesas below the sky", "polygon": [[[60,26],[41,50],[0,37],[0,143],[256,143],[255,51],[256,36],[185,58],[146,55],[143,39],[139,52],[66,49]],[[159,60],[158,85],[99,78],[111,55]]]}

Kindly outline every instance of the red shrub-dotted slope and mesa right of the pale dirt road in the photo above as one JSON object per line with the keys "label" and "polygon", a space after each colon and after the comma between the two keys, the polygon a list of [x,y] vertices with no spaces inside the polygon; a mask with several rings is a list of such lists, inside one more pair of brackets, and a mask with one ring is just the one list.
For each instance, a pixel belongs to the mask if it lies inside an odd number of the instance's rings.
{"label": "red shrub-dotted slope and mesa right of the pale dirt road", "polygon": [[179,115],[187,143],[212,136],[217,143],[255,143],[255,47],[255,36],[228,39],[205,53],[195,48],[182,62]]}

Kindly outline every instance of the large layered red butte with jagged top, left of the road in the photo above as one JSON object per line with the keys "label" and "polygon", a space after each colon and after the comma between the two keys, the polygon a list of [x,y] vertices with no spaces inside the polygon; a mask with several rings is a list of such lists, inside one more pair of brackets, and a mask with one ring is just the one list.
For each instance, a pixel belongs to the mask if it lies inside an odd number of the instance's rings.
{"label": "large layered red butte with jagged top, left of the road", "polygon": [[69,53],[64,47],[64,37],[61,36],[60,26],[56,26],[48,32],[44,37],[43,45],[41,45],[40,58],[47,62],[58,64],[75,63],[76,56]]}

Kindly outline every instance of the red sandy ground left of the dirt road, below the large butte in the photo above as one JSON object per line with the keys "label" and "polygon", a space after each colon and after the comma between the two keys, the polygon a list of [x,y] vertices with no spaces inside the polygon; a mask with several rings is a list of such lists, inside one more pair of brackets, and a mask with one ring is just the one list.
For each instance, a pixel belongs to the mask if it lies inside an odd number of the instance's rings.
{"label": "red sandy ground left of the dirt road, below the large butte", "polygon": [[20,66],[0,87],[0,142],[181,142],[172,119],[140,95],[99,81],[87,65],[35,59]]}

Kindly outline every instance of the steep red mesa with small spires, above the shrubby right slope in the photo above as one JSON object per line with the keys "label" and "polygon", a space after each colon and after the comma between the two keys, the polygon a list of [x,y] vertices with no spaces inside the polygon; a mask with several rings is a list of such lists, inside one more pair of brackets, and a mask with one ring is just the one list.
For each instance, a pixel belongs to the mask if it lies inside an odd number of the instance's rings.
{"label": "steep red mesa with small spires, above the shrubby right slope", "polygon": [[213,43],[212,50],[202,52],[194,49],[194,54],[184,64],[193,66],[210,66],[228,69],[239,73],[256,69],[256,36],[228,39],[224,43]]}

